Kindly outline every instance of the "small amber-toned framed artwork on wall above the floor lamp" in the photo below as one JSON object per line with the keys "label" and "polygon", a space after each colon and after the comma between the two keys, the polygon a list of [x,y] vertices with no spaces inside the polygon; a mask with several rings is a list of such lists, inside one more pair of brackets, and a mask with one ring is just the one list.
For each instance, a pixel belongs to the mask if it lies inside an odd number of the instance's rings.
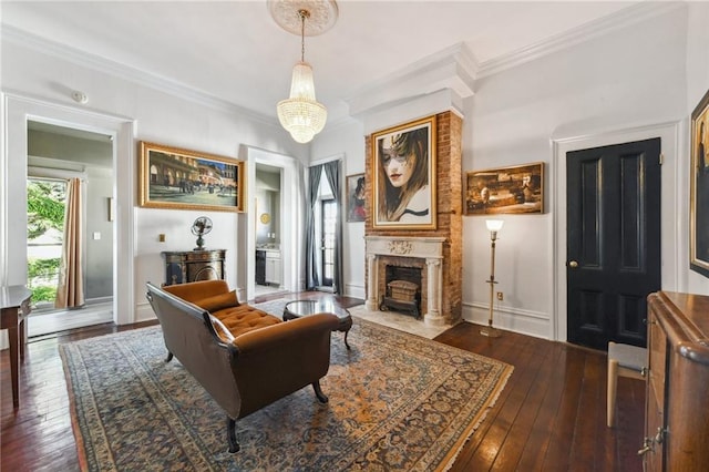
{"label": "small amber-toned framed artwork on wall above the floor lamp", "polygon": [[544,213],[544,163],[469,172],[464,203],[466,215]]}

